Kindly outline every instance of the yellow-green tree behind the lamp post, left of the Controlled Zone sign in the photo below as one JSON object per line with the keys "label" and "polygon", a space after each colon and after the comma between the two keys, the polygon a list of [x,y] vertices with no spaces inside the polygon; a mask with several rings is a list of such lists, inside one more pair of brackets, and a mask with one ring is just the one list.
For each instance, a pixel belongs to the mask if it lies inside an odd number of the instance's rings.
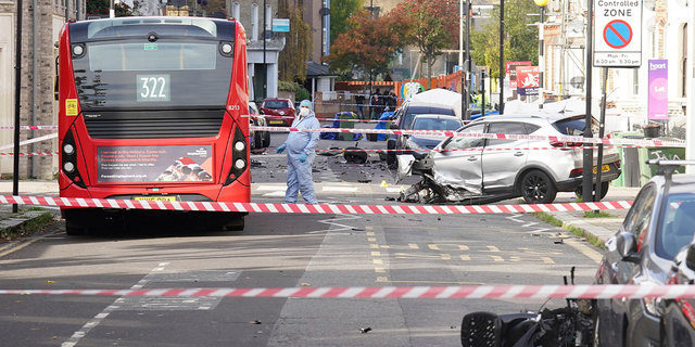
{"label": "yellow-green tree behind the lamp post, left of the Controlled Zone sign", "polygon": [[[507,62],[539,62],[539,29],[529,25],[538,22],[538,17],[529,16],[539,8],[529,0],[505,0],[504,7],[504,57]],[[482,30],[470,33],[471,56],[479,65],[490,67],[490,77],[500,78],[500,11],[492,16]],[[504,74],[504,73],[503,73]]]}

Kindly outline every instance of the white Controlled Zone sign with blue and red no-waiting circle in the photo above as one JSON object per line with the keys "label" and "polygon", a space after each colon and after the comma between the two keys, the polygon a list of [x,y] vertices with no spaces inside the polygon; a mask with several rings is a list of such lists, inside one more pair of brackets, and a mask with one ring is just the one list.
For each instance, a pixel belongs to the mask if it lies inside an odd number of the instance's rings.
{"label": "white Controlled Zone sign with blue and red no-waiting circle", "polygon": [[594,66],[642,65],[642,1],[596,0]]}

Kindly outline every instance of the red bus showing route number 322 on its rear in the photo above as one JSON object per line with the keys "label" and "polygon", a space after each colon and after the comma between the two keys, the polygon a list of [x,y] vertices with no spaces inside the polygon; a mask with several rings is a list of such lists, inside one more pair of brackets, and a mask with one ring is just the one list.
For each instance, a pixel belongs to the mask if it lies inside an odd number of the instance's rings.
{"label": "red bus showing route number 322 on its rear", "polygon": [[[60,195],[251,200],[247,42],[237,21],[119,17],[60,37]],[[63,208],[67,234],[167,214],[208,229],[243,214]]]}

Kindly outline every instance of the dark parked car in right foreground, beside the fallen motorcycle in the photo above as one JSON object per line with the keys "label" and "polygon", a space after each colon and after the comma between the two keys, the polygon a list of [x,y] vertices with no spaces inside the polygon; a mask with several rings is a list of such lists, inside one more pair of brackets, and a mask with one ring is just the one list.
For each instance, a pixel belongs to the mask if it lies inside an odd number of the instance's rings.
{"label": "dark parked car in right foreground, beside the fallen motorcycle", "polygon": [[[596,273],[597,284],[665,284],[673,257],[693,240],[695,176],[671,176],[674,168],[687,162],[649,163],[658,165],[658,172],[637,194],[620,230],[606,242],[606,252]],[[688,271],[682,261],[687,255],[679,257],[679,269]],[[674,278],[679,283],[691,283],[694,278],[692,271],[690,273],[685,275],[691,275],[688,280],[680,274]],[[690,303],[692,300],[679,300],[666,310],[669,317],[664,319],[667,332],[670,330],[673,334],[687,327],[693,334],[692,321],[675,312],[678,305],[688,307]],[[599,299],[594,307],[595,337],[599,346],[662,346],[659,326],[662,310],[658,299]],[[680,323],[674,323],[673,319]],[[678,336],[683,335],[679,333]]]}

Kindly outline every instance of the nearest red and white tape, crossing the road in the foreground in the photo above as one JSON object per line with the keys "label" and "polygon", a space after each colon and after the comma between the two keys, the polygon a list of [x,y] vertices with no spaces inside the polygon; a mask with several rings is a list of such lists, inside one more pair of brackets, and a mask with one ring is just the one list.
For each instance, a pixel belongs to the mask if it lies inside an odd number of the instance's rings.
{"label": "nearest red and white tape, crossing the road in the foreground", "polygon": [[695,285],[460,285],[287,288],[0,290],[0,295],[214,296],[301,298],[617,299],[694,298]]}

